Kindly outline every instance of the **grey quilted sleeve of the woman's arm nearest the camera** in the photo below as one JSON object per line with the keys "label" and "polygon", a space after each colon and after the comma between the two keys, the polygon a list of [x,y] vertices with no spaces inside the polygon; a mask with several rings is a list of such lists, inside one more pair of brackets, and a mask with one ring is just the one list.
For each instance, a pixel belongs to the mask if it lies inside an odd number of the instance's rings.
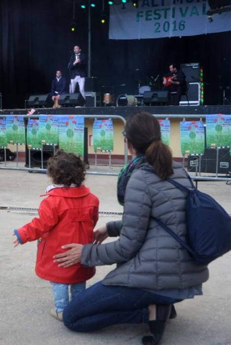
{"label": "grey quilted sleeve of the woman's arm nearest the camera", "polygon": [[127,184],[119,239],[106,244],[85,244],[81,260],[84,266],[127,262],[139,252],[146,238],[152,206],[148,186],[143,179],[136,178],[136,173],[133,173]]}

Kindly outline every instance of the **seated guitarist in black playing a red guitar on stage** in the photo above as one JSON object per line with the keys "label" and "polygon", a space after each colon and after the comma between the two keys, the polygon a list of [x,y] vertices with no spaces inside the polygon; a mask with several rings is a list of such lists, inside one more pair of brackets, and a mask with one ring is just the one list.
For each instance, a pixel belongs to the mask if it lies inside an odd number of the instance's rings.
{"label": "seated guitarist in black playing a red guitar on stage", "polygon": [[177,69],[177,66],[171,64],[169,66],[169,72],[163,76],[163,88],[162,90],[168,90],[169,92],[176,92],[173,95],[170,94],[170,105],[179,105],[181,95],[187,89],[185,74]]}

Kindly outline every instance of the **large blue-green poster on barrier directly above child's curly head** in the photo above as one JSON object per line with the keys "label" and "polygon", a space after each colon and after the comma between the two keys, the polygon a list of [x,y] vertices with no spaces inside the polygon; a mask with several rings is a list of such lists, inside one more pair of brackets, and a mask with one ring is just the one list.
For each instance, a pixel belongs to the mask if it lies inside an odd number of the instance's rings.
{"label": "large blue-green poster on barrier directly above child's curly head", "polygon": [[59,148],[83,157],[84,148],[84,117],[65,115],[59,116]]}

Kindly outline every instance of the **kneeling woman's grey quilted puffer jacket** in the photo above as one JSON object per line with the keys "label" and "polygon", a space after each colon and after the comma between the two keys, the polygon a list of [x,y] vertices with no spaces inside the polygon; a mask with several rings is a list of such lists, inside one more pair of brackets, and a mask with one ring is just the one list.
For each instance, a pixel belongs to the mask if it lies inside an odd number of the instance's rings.
{"label": "kneeling woman's grey quilted puffer jacket", "polygon": [[[85,244],[84,266],[120,264],[102,281],[144,289],[184,289],[208,279],[206,266],[198,266],[181,244],[152,218],[156,217],[186,241],[186,193],[141,167],[134,170],[126,187],[119,239],[106,244]],[[192,188],[182,166],[173,163],[171,178]],[[119,222],[109,222],[110,236],[119,233]]]}

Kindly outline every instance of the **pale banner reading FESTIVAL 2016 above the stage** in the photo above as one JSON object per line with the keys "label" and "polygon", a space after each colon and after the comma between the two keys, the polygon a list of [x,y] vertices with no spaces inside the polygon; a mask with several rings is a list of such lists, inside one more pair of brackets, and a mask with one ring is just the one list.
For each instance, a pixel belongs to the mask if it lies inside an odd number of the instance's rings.
{"label": "pale banner reading FESTIVAL 2016 above the stage", "polygon": [[139,0],[110,6],[110,39],[193,36],[231,30],[231,12],[206,15],[207,0]]}

